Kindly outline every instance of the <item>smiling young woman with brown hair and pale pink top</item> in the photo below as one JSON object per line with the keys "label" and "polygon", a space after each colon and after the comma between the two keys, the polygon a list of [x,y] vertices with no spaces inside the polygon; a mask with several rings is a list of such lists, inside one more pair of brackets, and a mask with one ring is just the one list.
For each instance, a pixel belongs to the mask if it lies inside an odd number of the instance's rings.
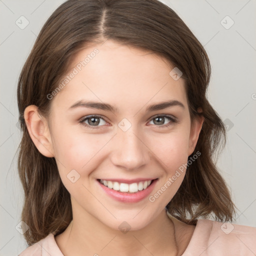
{"label": "smiling young woman with brown hair and pale pink top", "polygon": [[159,1],[61,4],[17,88],[20,255],[253,255],[256,228],[231,223],[212,160],[225,128],[209,77],[202,45]]}

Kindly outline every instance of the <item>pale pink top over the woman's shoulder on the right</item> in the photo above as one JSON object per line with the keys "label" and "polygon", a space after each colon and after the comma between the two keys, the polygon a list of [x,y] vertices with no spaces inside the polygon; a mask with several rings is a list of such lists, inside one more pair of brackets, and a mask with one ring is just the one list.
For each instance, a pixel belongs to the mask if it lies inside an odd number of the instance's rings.
{"label": "pale pink top over the woman's shoulder on the right", "polygon": [[198,219],[191,240],[182,254],[243,255],[256,253],[256,227]]}

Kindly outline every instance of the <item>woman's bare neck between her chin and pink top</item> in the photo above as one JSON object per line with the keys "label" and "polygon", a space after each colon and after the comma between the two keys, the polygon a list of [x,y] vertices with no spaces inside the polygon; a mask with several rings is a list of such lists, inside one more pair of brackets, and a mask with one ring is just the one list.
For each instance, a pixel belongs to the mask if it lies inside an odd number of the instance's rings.
{"label": "woman's bare neck between her chin and pink top", "polygon": [[104,225],[95,217],[73,211],[73,220],[55,237],[64,256],[85,255],[177,255],[175,229],[163,209],[147,226],[121,232]]}

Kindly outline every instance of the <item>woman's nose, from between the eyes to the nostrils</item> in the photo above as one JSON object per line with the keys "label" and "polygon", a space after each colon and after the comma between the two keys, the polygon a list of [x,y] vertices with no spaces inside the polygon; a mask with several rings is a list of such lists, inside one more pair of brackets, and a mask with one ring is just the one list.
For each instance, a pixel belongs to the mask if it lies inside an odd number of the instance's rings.
{"label": "woman's nose, from between the eyes to the nostrils", "polygon": [[129,170],[141,168],[150,160],[146,139],[132,125],[128,130],[117,129],[111,161],[114,165]]}

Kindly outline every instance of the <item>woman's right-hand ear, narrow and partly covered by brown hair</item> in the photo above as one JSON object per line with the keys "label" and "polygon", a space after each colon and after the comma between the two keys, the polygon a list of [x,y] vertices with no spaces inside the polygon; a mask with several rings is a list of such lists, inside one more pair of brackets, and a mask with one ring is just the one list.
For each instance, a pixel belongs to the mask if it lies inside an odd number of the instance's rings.
{"label": "woman's right-hand ear, narrow and partly covered by brown hair", "polygon": [[[197,112],[202,112],[202,109],[198,108]],[[203,120],[204,120],[203,116],[197,115],[194,122],[191,122],[190,134],[189,134],[189,145],[188,145],[188,152],[187,152],[188,155],[190,155],[194,151],[195,145],[199,137],[199,133],[202,128]]]}

